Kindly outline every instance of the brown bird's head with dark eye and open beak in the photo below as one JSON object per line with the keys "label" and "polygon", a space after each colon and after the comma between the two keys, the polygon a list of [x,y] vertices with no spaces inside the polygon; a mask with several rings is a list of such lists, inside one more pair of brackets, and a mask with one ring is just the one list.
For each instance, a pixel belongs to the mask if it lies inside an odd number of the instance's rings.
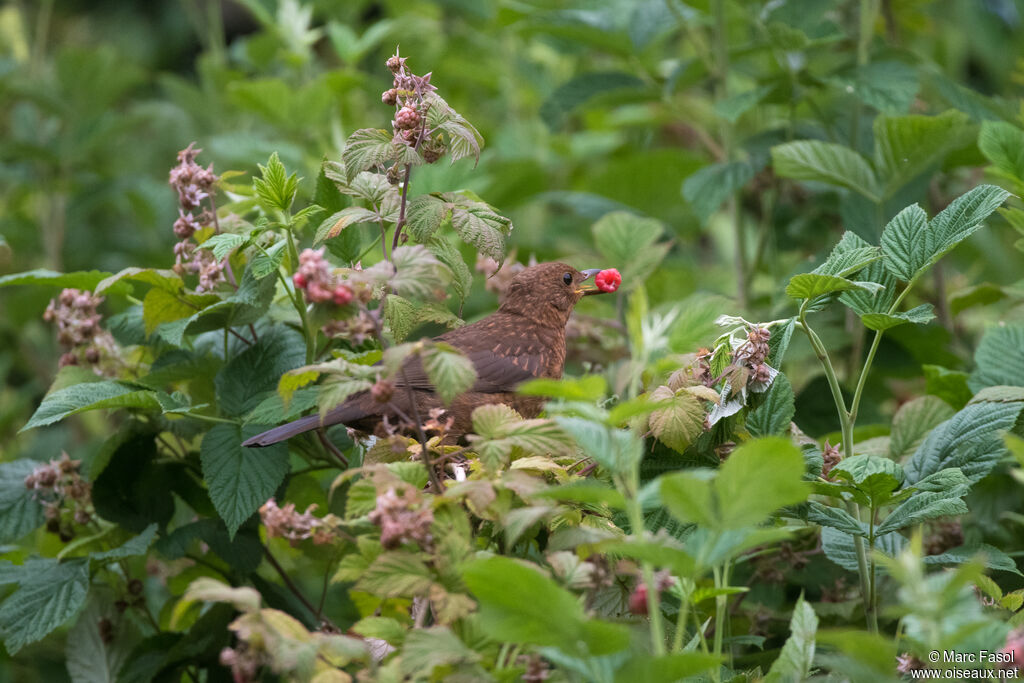
{"label": "brown bird's head with dark eye and open beak", "polygon": [[593,279],[600,271],[600,268],[577,270],[558,262],[523,268],[512,279],[501,309],[564,327],[580,299],[604,293],[593,286]]}

